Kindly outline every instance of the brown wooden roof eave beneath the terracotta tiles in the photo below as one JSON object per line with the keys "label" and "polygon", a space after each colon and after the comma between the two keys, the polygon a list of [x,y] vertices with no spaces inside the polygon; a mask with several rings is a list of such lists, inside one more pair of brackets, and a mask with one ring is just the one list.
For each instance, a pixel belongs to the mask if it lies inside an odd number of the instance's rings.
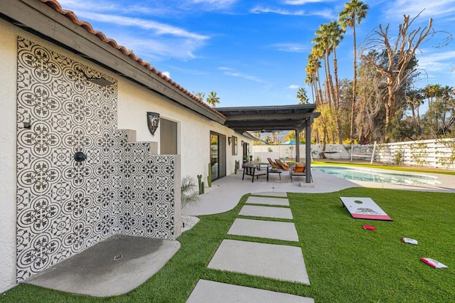
{"label": "brown wooden roof eave beneath the terracotta tiles", "polygon": [[41,38],[67,48],[117,75],[142,85],[183,107],[210,120],[224,124],[225,117],[191,93],[166,78],[154,68],[147,68],[137,60],[100,40],[70,18],[36,0],[0,0],[0,13],[13,19],[16,26],[38,34]]}

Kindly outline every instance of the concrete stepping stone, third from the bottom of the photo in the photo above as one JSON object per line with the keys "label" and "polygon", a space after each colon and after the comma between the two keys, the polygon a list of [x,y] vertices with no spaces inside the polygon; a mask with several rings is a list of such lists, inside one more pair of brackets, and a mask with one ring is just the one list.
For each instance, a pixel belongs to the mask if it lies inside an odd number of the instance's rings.
{"label": "concrete stepping stone, third from the bottom of the photo", "polygon": [[265,220],[235,219],[228,231],[229,235],[247,235],[287,241],[299,241],[294,223]]}

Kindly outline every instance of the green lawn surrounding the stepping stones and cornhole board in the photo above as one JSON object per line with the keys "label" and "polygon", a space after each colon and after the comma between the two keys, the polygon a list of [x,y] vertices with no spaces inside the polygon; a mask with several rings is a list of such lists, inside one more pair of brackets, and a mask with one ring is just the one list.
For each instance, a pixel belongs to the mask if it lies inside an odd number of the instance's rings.
{"label": "green lawn surrounding the stepping stones and cornhole board", "polygon": [[[367,196],[392,222],[354,220],[340,196]],[[201,216],[178,240],[181,249],[144,285],[128,294],[92,298],[19,285],[1,302],[185,302],[198,279],[313,297],[316,302],[454,302],[455,194],[349,188],[337,193],[289,194],[299,243],[227,235],[244,196],[232,211]],[[375,231],[362,226],[374,225]],[[419,240],[405,244],[402,237]],[[210,270],[208,262],[225,238],[301,245],[311,286]],[[419,260],[432,257],[449,268]]]}

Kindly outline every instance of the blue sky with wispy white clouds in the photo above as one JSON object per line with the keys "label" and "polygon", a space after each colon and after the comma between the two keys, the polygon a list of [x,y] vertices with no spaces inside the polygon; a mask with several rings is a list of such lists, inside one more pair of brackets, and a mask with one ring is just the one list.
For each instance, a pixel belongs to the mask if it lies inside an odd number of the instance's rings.
{"label": "blue sky with wispy white clouds", "polygon": [[[60,0],[109,38],[190,92],[215,91],[218,107],[291,105],[306,87],[305,66],[322,23],[338,20],[345,1],[336,0]],[[455,0],[377,0],[357,27],[359,47],[371,31],[390,23],[396,33],[403,14],[416,26],[434,18],[436,31],[455,36]],[[455,41],[436,48],[424,43],[418,54],[427,84],[455,86]],[[337,50],[339,75],[352,78],[353,41],[348,28]]]}

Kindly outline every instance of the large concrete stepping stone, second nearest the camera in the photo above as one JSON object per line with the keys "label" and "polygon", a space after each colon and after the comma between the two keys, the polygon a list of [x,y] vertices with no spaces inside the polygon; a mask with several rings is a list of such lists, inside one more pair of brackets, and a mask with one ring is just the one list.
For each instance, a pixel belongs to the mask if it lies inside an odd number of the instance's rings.
{"label": "large concrete stepping stone, second nearest the camera", "polygon": [[296,246],[225,239],[208,268],[310,284],[304,255]]}

